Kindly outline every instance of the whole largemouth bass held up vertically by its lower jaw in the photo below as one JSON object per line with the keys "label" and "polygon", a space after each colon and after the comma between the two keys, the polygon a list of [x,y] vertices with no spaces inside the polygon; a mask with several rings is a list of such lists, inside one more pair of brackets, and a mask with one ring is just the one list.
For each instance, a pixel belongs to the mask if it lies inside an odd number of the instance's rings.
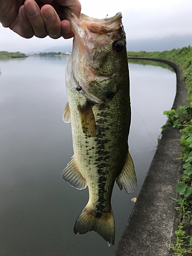
{"label": "whole largemouth bass held up vertically by its lower jaw", "polygon": [[107,19],[68,16],[74,39],[66,66],[68,103],[63,120],[72,125],[74,156],[62,178],[78,189],[89,188],[89,202],[74,232],[94,230],[109,244],[115,241],[114,182],[126,193],[137,186],[127,144],[130,81],[121,18],[121,13]]}

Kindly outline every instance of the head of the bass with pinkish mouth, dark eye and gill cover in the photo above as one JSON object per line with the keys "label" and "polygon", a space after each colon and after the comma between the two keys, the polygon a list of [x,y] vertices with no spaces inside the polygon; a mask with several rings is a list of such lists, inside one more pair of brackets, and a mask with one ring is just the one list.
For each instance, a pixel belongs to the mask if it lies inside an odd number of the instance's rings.
{"label": "head of the bass with pinkish mouth, dark eye and gill cover", "polygon": [[72,72],[79,92],[96,103],[108,103],[123,86],[129,71],[122,14],[96,19],[73,13]]}

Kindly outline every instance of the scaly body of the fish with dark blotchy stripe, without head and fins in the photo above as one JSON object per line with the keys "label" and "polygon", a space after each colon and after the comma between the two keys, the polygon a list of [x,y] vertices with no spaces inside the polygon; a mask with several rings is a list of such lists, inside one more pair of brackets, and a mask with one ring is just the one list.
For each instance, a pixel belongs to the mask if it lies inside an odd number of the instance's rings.
{"label": "scaly body of the fish with dark blotchy stripe, without head and fins", "polygon": [[89,203],[97,217],[111,211],[111,195],[128,152],[130,127],[129,90],[119,90],[108,104],[96,104],[92,111],[96,123],[95,137],[82,131],[78,105],[87,99],[67,87],[71,113],[74,158],[89,187]]}

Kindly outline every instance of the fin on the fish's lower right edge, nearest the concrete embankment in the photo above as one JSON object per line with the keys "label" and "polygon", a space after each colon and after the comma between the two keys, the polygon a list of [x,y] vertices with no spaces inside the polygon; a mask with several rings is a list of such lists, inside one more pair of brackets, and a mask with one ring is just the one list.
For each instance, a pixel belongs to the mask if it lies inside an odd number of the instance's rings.
{"label": "fin on the fish's lower right edge, nearest the concrete embankment", "polygon": [[122,189],[124,186],[127,194],[133,193],[137,187],[137,178],[134,164],[129,151],[126,156],[124,166],[116,182],[120,189]]}

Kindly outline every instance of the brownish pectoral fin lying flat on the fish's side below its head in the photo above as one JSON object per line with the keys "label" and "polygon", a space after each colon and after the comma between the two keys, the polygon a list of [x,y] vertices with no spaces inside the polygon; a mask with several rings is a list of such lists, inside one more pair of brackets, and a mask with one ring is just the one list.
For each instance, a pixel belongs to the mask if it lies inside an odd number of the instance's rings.
{"label": "brownish pectoral fin lying flat on the fish's side below its head", "polygon": [[95,117],[91,108],[91,104],[87,101],[83,106],[78,106],[80,114],[82,131],[88,137],[95,137]]}

